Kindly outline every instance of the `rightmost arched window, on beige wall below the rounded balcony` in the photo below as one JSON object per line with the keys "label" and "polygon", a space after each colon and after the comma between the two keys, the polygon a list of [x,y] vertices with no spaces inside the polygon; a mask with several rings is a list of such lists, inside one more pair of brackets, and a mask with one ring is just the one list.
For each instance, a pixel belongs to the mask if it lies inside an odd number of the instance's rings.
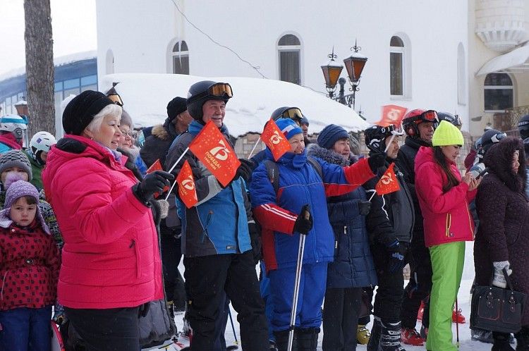
{"label": "rightmost arched window, on beige wall below the rounded balcony", "polygon": [[506,73],[487,74],[484,90],[485,111],[504,112],[513,107],[513,81]]}

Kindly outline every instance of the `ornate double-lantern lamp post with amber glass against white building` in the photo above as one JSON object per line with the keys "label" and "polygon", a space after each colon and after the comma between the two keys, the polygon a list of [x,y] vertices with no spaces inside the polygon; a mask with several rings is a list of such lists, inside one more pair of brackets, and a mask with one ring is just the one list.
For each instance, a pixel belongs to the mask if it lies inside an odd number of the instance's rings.
{"label": "ornate double-lantern lamp post with amber glass against white building", "polygon": [[[351,47],[353,54],[343,60],[343,63],[346,65],[349,84],[351,85],[349,88],[349,91],[352,92],[351,94],[345,94],[345,85],[347,80],[345,78],[339,78],[343,66],[337,64],[334,61],[334,58],[336,58],[336,55],[334,54],[334,47],[332,49],[332,54],[329,54],[328,56],[331,58],[331,61],[329,61],[326,66],[322,66],[323,76],[325,78],[325,87],[329,93],[328,96],[341,104],[348,105],[349,107],[353,105],[353,109],[355,109],[355,93],[360,90],[360,88],[358,88],[358,85],[360,84],[360,75],[362,75],[365,63],[367,62],[367,57],[358,52],[361,49],[362,48],[356,45],[355,41],[355,46]],[[337,97],[334,96],[334,92],[336,91],[336,82],[340,85],[340,90]]]}

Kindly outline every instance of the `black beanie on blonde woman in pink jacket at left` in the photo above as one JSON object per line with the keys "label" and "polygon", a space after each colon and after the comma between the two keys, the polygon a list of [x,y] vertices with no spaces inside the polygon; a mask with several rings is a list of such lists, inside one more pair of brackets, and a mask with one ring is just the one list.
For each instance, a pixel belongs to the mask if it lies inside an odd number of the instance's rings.
{"label": "black beanie on blonde woman in pink jacket at left", "polygon": [[63,128],[66,134],[80,135],[105,106],[114,104],[102,92],[85,90],[74,97],[63,112]]}

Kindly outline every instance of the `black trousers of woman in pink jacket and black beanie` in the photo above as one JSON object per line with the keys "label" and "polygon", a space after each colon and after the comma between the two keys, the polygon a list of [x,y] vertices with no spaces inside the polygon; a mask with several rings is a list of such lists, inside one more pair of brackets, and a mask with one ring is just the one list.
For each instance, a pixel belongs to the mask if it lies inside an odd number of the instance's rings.
{"label": "black trousers of woman in pink jacket and black beanie", "polygon": [[70,328],[85,351],[139,351],[138,308],[72,309],[64,307]]}

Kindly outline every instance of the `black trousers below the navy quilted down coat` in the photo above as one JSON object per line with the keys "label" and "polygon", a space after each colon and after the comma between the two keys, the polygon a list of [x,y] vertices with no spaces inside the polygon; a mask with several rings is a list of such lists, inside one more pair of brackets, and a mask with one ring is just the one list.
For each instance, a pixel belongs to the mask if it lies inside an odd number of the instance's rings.
{"label": "black trousers below the navy quilted down coat", "polygon": [[363,288],[327,288],[323,304],[324,351],[356,350]]}

